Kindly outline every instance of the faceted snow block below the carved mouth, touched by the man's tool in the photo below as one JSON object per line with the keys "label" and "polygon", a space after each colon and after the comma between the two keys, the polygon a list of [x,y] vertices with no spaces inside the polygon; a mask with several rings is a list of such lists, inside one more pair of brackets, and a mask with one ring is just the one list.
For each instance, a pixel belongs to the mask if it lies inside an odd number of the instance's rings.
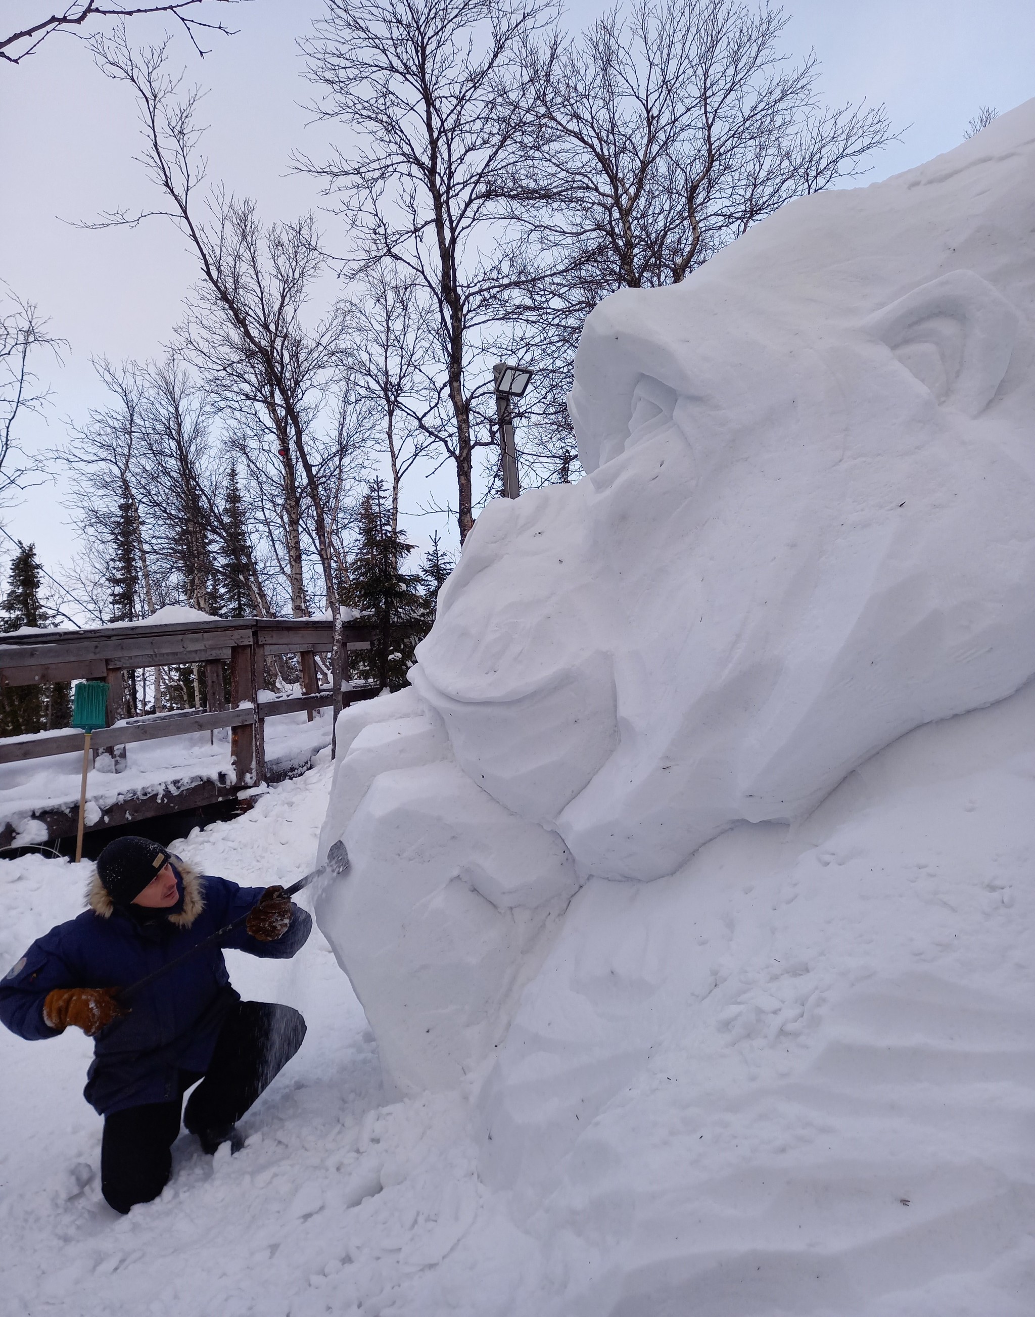
{"label": "faceted snow block below the carved mouth, touched by the man's tool", "polygon": [[[365,739],[342,768],[369,766]],[[452,760],[377,772],[344,838],[352,868],[323,888],[316,913],[377,1034],[386,1080],[402,1094],[456,1088],[503,1035],[537,963],[529,952],[578,886],[571,859],[556,834],[504,810]]]}

